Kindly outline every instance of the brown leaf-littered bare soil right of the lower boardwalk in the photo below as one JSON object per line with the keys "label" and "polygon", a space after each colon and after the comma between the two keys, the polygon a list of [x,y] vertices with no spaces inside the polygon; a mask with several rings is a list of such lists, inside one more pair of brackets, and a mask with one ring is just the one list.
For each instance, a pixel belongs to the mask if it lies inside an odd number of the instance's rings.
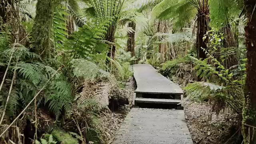
{"label": "brown leaf-littered bare soil right of the lower boardwalk", "polygon": [[194,144],[238,144],[241,141],[240,126],[233,112],[226,110],[217,115],[207,102],[190,101],[185,103],[184,112]]}

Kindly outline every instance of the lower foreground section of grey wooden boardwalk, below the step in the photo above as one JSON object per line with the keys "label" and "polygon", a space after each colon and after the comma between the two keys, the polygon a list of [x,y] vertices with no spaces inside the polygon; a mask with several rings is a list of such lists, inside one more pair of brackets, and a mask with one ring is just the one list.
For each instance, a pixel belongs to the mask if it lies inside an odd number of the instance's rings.
{"label": "lower foreground section of grey wooden boardwalk, below the step", "polygon": [[113,144],[193,144],[183,110],[132,108]]}

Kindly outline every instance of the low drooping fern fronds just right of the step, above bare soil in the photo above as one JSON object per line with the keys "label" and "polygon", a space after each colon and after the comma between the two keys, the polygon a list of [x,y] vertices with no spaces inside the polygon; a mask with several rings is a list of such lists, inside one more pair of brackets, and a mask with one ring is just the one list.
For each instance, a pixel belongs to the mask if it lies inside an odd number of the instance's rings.
{"label": "low drooping fern fronds just right of the step, above bare soil", "polygon": [[208,82],[195,82],[188,84],[185,91],[191,100],[209,100],[214,112],[218,113],[223,109],[229,108],[240,116],[242,114],[244,96],[241,86],[232,84],[219,86]]}

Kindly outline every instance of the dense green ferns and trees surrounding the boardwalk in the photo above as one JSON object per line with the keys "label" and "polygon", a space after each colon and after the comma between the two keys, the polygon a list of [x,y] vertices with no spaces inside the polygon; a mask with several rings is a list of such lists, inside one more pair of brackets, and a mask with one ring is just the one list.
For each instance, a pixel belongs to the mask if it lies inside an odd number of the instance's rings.
{"label": "dense green ferns and trees surrounding the boardwalk", "polygon": [[255,5],[1,0],[0,144],[110,144],[131,108],[132,64],[151,64],[185,100],[229,111],[235,130],[219,142],[254,144]]}

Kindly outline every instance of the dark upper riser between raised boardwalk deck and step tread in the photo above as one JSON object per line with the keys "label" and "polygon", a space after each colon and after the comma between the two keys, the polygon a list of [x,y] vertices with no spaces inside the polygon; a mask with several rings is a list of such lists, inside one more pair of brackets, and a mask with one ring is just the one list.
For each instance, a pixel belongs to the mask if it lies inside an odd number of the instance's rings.
{"label": "dark upper riser between raised boardwalk deck and step tread", "polygon": [[162,99],[175,99],[180,100],[180,94],[143,94],[143,93],[136,93],[137,98],[162,98]]}

